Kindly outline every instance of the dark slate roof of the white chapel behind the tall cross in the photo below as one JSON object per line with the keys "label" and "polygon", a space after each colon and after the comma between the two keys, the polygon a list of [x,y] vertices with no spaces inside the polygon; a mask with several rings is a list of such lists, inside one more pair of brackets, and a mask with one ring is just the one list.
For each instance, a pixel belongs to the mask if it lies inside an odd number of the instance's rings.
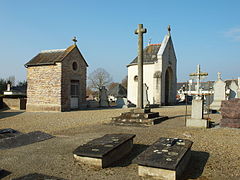
{"label": "dark slate roof of the white chapel behind the tall cross", "polygon": [[[161,44],[150,44],[143,50],[143,63],[151,64],[157,61],[157,53]],[[138,62],[138,56],[129,64],[134,65]],[[128,65],[128,66],[129,66]]]}

